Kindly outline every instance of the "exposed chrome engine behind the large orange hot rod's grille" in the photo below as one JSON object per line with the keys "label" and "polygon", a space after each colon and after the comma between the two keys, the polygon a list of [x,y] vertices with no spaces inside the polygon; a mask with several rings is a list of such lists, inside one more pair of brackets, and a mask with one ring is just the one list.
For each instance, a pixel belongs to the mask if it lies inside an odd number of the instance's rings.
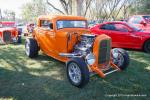
{"label": "exposed chrome engine behind the large orange hot rod's grille", "polygon": [[95,37],[94,34],[82,34],[81,41],[74,46],[74,53],[82,56],[91,53]]}

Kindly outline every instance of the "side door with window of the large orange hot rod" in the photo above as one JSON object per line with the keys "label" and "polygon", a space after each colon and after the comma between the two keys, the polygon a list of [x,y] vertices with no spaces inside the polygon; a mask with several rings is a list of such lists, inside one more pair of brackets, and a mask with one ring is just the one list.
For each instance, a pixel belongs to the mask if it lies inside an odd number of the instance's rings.
{"label": "side door with window of the large orange hot rod", "polygon": [[40,47],[47,54],[54,52],[55,49],[55,33],[49,27],[50,23],[50,20],[40,20],[40,27],[38,29]]}

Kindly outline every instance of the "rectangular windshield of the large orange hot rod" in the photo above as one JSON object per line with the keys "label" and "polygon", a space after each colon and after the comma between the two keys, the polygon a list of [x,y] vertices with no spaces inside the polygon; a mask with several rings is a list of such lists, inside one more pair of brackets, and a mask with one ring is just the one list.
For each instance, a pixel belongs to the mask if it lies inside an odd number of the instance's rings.
{"label": "rectangular windshield of the large orange hot rod", "polygon": [[57,29],[62,28],[87,28],[85,20],[59,20],[57,21]]}

